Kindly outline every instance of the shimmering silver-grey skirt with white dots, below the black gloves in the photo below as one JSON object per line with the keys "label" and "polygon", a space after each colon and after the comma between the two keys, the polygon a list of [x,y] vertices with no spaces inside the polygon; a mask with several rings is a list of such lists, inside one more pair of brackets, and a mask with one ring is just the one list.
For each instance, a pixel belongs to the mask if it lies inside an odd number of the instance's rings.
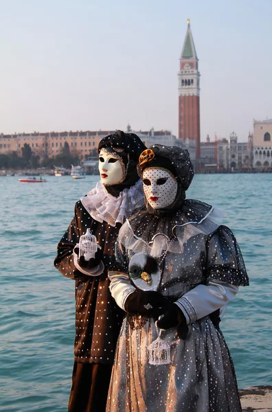
{"label": "shimmering silver-grey skirt with white dots, below the black gloves", "polygon": [[115,353],[106,412],[241,412],[234,366],[222,332],[209,317],[189,325],[185,341],[175,328],[161,332],[170,364],[150,365],[157,339],[148,319],[133,328],[124,319]]}

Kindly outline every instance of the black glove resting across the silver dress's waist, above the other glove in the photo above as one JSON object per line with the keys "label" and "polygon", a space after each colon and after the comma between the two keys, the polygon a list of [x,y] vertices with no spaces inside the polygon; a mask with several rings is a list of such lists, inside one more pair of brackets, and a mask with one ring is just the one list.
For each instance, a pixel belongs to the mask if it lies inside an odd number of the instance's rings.
{"label": "black glove resting across the silver dress's waist, above the other glove", "polygon": [[159,292],[135,290],[126,298],[124,308],[131,314],[139,313],[152,317],[157,316],[157,311],[165,304],[166,299]]}

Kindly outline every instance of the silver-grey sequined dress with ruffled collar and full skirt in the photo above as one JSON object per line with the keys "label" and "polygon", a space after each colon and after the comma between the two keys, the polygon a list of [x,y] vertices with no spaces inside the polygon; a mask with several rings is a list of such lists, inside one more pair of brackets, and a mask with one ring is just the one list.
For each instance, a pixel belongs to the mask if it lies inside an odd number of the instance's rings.
{"label": "silver-grey sequined dress with ruffled collar and full skirt", "polygon": [[151,255],[161,269],[157,290],[180,302],[189,324],[185,340],[179,339],[177,328],[161,332],[161,339],[170,345],[170,364],[150,365],[147,347],[157,339],[155,321],[126,315],[117,343],[107,412],[241,411],[234,366],[223,334],[208,313],[199,315],[201,303],[205,307],[205,293],[203,302],[199,293],[195,307],[194,299],[189,299],[199,285],[231,290],[249,284],[234,234],[218,225],[215,215],[211,206],[189,200],[173,214],[156,216],[140,211],[120,230],[116,250],[120,276],[110,273],[115,299],[124,301],[129,293],[128,267],[133,257],[137,253]]}

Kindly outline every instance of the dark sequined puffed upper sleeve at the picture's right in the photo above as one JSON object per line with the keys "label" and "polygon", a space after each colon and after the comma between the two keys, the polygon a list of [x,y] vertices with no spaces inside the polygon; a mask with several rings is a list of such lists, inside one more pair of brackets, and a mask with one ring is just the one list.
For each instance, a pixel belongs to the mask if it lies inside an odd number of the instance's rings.
{"label": "dark sequined puffed upper sleeve at the picture's right", "polygon": [[248,286],[249,278],[234,233],[219,226],[207,239],[205,277],[236,286]]}

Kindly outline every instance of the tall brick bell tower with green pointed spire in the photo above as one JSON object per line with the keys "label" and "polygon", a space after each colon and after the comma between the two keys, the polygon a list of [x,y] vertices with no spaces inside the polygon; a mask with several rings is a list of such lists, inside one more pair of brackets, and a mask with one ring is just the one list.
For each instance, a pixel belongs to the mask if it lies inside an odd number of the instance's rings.
{"label": "tall brick bell tower with green pointed spire", "polygon": [[196,162],[201,157],[199,109],[199,59],[188,19],[188,28],[180,57],[179,69],[179,139],[195,141]]}

